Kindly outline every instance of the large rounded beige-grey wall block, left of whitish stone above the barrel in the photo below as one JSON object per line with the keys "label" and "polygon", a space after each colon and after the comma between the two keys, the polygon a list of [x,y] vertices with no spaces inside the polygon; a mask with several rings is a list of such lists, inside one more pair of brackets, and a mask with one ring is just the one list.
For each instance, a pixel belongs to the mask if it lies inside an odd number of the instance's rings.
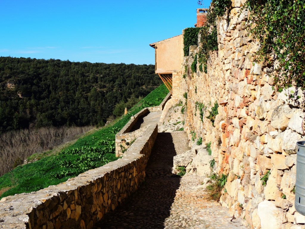
{"label": "large rounded beige-grey wall block, left of whitish stone above the barrel", "polygon": [[289,123],[286,115],[290,113],[292,113],[292,109],[287,104],[276,107],[271,115],[271,126],[276,130],[284,131]]}

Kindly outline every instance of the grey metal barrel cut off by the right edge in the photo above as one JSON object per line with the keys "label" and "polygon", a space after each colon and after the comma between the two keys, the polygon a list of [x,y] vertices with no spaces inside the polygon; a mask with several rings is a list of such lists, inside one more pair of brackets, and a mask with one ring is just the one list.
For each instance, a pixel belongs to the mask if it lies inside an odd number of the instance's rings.
{"label": "grey metal barrel cut off by the right edge", "polygon": [[296,211],[305,216],[305,141],[296,143],[296,199],[294,206]]}

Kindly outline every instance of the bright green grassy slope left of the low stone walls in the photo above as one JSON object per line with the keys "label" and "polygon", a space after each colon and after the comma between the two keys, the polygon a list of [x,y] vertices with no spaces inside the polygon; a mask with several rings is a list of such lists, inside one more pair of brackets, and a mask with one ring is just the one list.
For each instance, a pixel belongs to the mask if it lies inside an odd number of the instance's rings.
{"label": "bright green grassy slope left of the low stone walls", "polygon": [[55,156],[21,165],[0,177],[1,198],[56,185],[88,169],[115,161],[115,134],[124,127],[132,115],[142,108],[160,105],[168,90],[162,84],[130,109],[126,116],[95,133],[80,138]]}

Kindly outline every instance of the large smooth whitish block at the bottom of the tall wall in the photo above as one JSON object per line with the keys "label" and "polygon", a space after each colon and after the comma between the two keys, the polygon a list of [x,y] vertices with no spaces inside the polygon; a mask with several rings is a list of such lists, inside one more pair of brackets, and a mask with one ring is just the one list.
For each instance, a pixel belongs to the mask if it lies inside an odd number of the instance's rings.
{"label": "large smooth whitish block at the bottom of the tall wall", "polygon": [[258,216],[262,229],[284,229],[283,223],[287,222],[287,218],[282,209],[277,208],[274,202],[264,200],[258,204]]}

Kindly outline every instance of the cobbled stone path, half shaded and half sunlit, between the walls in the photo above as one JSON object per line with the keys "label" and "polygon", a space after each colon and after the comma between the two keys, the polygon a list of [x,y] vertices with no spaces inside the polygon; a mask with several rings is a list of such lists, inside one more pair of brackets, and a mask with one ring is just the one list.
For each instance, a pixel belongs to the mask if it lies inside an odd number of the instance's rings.
{"label": "cobbled stone path, half shaded and half sunlit, between the walls", "polygon": [[144,183],[96,229],[246,228],[230,222],[228,209],[203,198],[204,177],[171,173],[173,157],[189,149],[184,131],[158,133]]}

